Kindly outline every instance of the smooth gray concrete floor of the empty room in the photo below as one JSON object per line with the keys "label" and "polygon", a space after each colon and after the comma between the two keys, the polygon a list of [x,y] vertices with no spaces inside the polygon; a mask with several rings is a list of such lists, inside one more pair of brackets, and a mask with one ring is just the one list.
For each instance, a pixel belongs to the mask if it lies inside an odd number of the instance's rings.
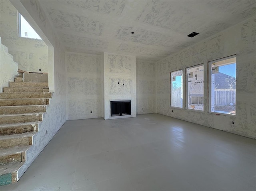
{"label": "smooth gray concrete floor of the empty room", "polygon": [[1,191],[255,191],[256,140],[160,114],[67,121]]}

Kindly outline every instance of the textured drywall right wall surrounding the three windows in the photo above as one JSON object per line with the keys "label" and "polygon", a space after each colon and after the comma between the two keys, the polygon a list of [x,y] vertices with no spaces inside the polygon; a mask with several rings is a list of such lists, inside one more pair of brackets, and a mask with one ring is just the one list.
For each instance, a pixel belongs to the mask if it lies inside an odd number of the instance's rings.
{"label": "textured drywall right wall surrounding the three windows", "polygon": [[[236,116],[208,113],[207,82],[204,81],[204,111],[171,108],[170,71],[236,54]],[[157,112],[189,122],[256,138],[256,17],[166,57],[156,63]],[[183,81],[185,83],[185,79]],[[186,92],[183,86],[183,92]],[[185,105],[185,99],[183,99]],[[172,112],[173,110],[173,112]],[[234,121],[234,124],[232,124]]]}

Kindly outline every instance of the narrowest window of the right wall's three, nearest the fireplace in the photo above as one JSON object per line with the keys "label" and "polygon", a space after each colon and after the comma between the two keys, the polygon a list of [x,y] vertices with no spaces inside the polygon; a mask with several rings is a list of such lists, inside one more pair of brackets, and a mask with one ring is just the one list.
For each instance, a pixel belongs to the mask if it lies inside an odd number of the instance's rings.
{"label": "narrowest window of the right wall's three, nearest the fireplace", "polygon": [[171,106],[182,108],[182,70],[170,73]]}

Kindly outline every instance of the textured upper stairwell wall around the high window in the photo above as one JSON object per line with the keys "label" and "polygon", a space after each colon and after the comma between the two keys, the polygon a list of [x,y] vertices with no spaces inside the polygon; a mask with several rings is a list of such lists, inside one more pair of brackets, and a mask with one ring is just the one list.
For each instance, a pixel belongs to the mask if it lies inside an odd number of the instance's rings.
{"label": "textured upper stairwell wall around the high window", "polygon": [[[48,73],[48,47],[44,41],[18,36],[17,10],[10,1],[1,1],[0,33],[21,70]],[[39,71],[41,69],[41,71]]]}

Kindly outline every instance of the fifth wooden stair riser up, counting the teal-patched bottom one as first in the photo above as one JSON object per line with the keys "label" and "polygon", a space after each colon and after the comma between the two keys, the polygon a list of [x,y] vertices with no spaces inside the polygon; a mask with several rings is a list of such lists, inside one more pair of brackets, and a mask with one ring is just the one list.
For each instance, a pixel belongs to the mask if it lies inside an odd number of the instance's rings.
{"label": "fifth wooden stair riser up, counting the teal-patched bottom one as first", "polygon": [[42,114],[18,115],[18,116],[2,116],[0,124],[26,123],[34,121],[42,121]]}

